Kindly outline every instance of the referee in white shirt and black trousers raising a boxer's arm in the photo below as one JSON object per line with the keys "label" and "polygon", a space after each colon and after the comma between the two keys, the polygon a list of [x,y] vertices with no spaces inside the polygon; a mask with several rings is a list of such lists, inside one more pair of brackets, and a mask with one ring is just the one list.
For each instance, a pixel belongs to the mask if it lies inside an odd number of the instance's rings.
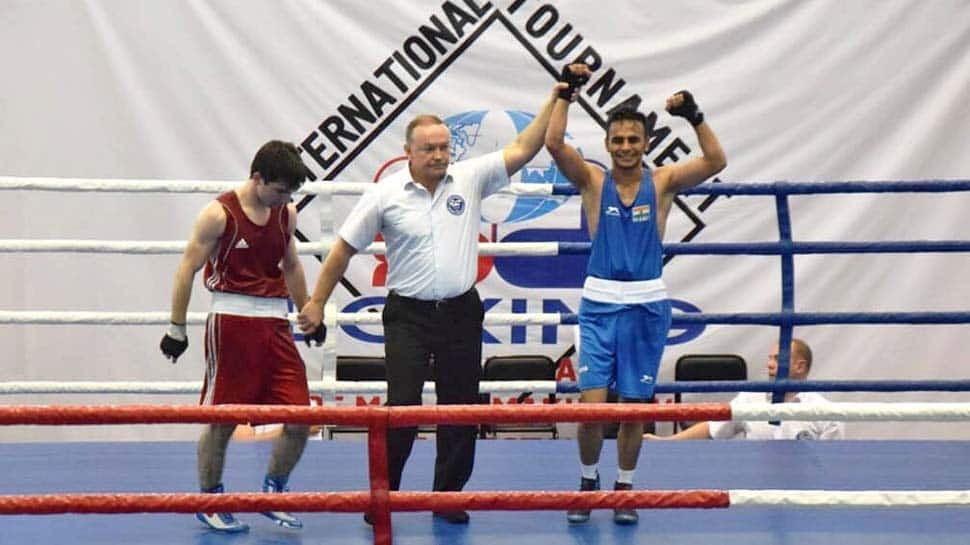
{"label": "referee in white shirt and black trousers raising a boxer's arm", "polygon": [[[538,153],[555,99],[571,91],[558,83],[515,140],[451,165],[448,127],[433,115],[415,117],[405,135],[408,168],[369,188],[340,228],[313,296],[299,314],[300,329],[314,331],[322,322],[323,307],[350,258],[381,233],[388,262],[383,321],[389,405],[420,405],[432,366],[438,404],[478,403],[484,309],[475,279],[482,199],[507,186]],[[388,430],[391,490],[400,489],[416,433],[416,428]],[[475,426],[438,426],[435,491],[459,491],[468,482],[475,436]],[[434,516],[468,522],[465,511]]]}

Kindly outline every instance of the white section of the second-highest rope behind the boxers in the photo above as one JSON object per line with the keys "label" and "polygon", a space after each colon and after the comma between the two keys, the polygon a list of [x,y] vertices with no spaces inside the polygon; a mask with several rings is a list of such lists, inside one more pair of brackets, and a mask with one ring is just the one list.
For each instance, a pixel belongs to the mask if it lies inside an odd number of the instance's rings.
{"label": "white section of the second-highest rope behind the boxers", "polygon": [[[84,253],[171,255],[185,251],[184,240],[70,240],[70,239],[11,239],[0,240],[0,253]],[[300,255],[326,254],[333,242],[297,242]],[[558,255],[558,242],[481,242],[479,255],[486,256],[542,256]],[[384,255],[386,245],[375,242],[360,250],[360,254]]]}

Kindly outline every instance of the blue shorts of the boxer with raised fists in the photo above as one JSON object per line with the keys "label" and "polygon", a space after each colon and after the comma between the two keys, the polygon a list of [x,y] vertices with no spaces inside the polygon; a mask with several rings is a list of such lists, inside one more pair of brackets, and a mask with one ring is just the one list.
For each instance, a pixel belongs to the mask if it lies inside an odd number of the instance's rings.
{"label": "blue shorts of the boxer with raised fists", "polygon": [[579,389],[613,388],[621,397],[653,397],[667,343],[670,301],[579,304]]}

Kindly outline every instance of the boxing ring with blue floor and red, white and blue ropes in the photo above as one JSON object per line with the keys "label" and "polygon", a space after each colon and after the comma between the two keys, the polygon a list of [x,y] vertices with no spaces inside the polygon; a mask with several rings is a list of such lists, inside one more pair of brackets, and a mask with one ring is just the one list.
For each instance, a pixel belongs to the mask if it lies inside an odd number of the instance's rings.
{"label": "boxing ring with blue floor and red, white and blue ropes", "polygon": [[[58,191],[176,191],[218,193],[237,184],[144,183],[50,179],[0,179],[0,189]],[[516,191],[571,192],[571,188],[516,187]],[[132,189],[133,188],[133,189]],[[353,193],[360,184],[319,184],[315,193]],[[970,181],[717,184],[691,194],[773,195],[780,240],[777,243],[667,244],[676,254],[778,255],[782,266],[782,308],[763,314],[675,314],[674,325],[691,323],[766,325],[779,330],[780,376],[787,375],[788,346],[795,326],[822,324],[967,324],[970,312],[800,313],[794,311],[793,258],[799,254],[967,252],[968,241],[878,243],[797,242],[792,239],[788,196],[809,193],[970,191]],[[180,253],[184,243],[106,241],[0,241],[2,252]],[[325,242],[303,243],[302,254],[318,253]],[[588,244],[483,244],[484,254],[522,255],[588,252]],[[380,252],[380,246],[367,252]],[[503,252],[507,252],[504,253]],[[204,315],[190,313],[201,323]],[[328,312],[330,325],[379,323],[372,314]],[[167,312],[0,312],[4,324],[168,323]],[[489,314],[486,323],[571,324],[568,314]],[[334,342],[335,335],[328,342]],[[333,346],[329,347],[333,350]],[[185,393],[196,383],[2,383],[0,393],[126,392]],[[374,392],[381,383],[341,384],[334,378],[311,383],[314,391]],[[658,393],[769,391],[967,391],[970,381],[799,381],[660,384]],[[555,383],[483,383],[483,391],[537,393],[567,391]],[[724,404],[676,406],[467,406],[467,407],[257,407],[257,406],[8,406],[0,425],[76,425],[121,423],[203,423],[288,421],[366,425],[362,442],[311,443],[294,472],[301,490],[288,494],[178,494],[194,490],[194,449],[185,443],[0,444],[9,460],[9,477],[0,493],[0,543],[50,542],[70,536],[77,543],[965,543],[970,520],[970,442],[964,441],[743,441],[651,442],[644,447],[638,491],[579,493],[563,491],[576,480],[575,446],[529,441],[532,463],[509,463],[523,443],[480,442],[472,481],[462,493],[388,492],[388,427],[428,423],[814,420],[967,421],[967,403],[833,403],[753,405],[739,410]],[[268,445],[234,444],[227,480],[258,482]],[[366,448],[366,451],[365,451]],[[405,475],[407,490],[427,488],[431,445],[418,442]],[[610,447],[603,459],[613,457]],[[363,461],[368,460],[367,468]],[[40,461],[40,463],[38,463]],[[339,470],[337,469],[339,468]],[[246,474],[248,476],[241,476]],[[107,479],[105,479],[107,477]],[[248,479],[248,480],[247,480]],[[92,492],[92,489],[95,491]],[[326,490],[312,492],[314,490]],[[644,509],[639,525],[615,526],[596,512],[590,523],[570,527],[567,507]],[[269,521],[249,535],[225,536],[202,530],[185,516],[200,510],[312,512],[300,533],[277,529]],[[468,526],[432,522],[427,510],[479,511]],[[521,512],[520,512],[521,511]],[[371,512],[375,527],[359,513]],[[393,534],[391,532],[391,513]],[[400,513],[399,513],[400,512]],[[36,517],[30,514],[60,514]],[[105,519],[102,515],[132,514]],[[352,513],[353,516],[340,513]],[[255,517],[253,517],[255,518]],[[563,535],[565,534],[565,536]]]}

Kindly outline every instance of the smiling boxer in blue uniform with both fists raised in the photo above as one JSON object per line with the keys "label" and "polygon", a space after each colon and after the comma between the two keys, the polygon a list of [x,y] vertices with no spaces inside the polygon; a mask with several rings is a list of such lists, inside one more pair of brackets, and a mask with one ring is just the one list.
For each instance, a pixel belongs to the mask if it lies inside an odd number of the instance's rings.
{"label": "smiling boxer in blue uniform with both fists raised", "polygon": [[[670,329],[670,302],[661,278],[662,241],[674,196],[720,172],[727,165],[724,151],[704,121],[688,91],[667,99],[666,110],[694,127],[702,156],[681,163],[644,168],[648,149],[647,120],[640,112],[620,110],[610,115],[606,151],[611,168],[604,172],[587,163],[565,143],[566,116],[576,89],[590,76],[587,66],[563,69],[569,84],[553,108],[546,148],[559,170],[576,186],[593,241],[583,299],[579,306],[579,389],[584,403],[606,401],[610,388],[620,400],[653,398],[657,368]],[[600,423],[580,424],[580,490],[599,489],[599,457],[603,446]],[[614,490],[632,490],[640,455],[643,425],[620,424],[617,435],[619,471]],[[588,510],[571,510],[570,523],[589,520]],[[618,524],[635,524],[632,509],[616,509]]]}

